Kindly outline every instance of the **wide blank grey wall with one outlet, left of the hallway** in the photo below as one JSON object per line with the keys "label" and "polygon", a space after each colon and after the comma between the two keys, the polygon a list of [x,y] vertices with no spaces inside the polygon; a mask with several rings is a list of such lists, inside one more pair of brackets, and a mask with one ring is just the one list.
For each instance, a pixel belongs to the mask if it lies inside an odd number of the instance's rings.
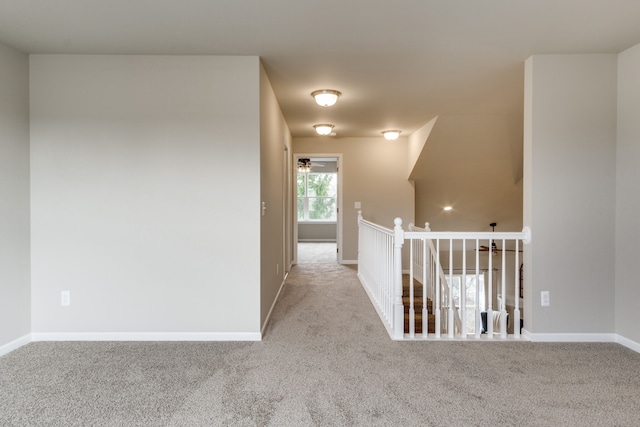
{"label": "wide blank grey wall with one outlet, left of the hallway", "polygon": [[36,337],[259,338],[259,58],[30,64]]}

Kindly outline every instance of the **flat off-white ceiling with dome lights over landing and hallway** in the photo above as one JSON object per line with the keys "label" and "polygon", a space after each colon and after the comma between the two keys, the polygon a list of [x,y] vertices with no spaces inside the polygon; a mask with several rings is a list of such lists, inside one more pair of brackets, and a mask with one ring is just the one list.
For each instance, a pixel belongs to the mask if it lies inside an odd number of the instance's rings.
{"label": "flat off-white ceiling with dome lights over landing and hallway", "polygon": [[[523,61],[640,42],[638,0],[0,0],[28,53],[259,55],[294,136],[522,111]],[[335,107],[311,91],[332,88]]]}

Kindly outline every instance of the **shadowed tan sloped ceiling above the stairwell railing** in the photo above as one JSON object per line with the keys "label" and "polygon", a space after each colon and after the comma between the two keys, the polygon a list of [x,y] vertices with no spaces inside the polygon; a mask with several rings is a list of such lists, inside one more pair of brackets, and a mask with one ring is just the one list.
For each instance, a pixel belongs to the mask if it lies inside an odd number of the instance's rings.
{"label": "shadowed tan sloped ceiling above the stairwell railing", "polygon": [[[509,116],[438,116],[410,178],[416,224],[432,230],[522,229],[522,125]],[[453,210],[445,212],[445,206]]]}

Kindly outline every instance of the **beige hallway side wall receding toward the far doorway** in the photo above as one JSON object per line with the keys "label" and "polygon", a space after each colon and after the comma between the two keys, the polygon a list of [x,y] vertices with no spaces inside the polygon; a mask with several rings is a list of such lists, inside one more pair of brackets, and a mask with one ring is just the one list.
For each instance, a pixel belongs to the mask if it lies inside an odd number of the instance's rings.
{"label": "beige hallway side wall receding toward the far doorway", "polygon": [[[264,329],[285,278],[291,253],[287,208],[291,134],[269,78],[260,65],[260,200],[266,209],[260,223],[260,325]],[[260,207],[262,209],[262,207]],[[287,228],[289,227],[289,228]],[[289,231],[287,231],[289,230]]]}

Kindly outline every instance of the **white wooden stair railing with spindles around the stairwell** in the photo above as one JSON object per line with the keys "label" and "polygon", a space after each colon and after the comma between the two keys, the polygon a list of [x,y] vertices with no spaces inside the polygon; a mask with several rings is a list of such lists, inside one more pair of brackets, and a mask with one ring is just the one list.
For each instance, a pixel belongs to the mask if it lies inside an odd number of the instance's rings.
{"label": "white wooden stair railing with spindles around the stairwell", "polygon": [[[394,339],[415,338],[415,307],[413,306],[413,279],[423,286],[422,307],[422,338],[428,338],[428,310],[427,298],[434,304],[436,330],[433,337],[441,338],[446,332],[447,338],[459,336],[467,338],[466,315],[466,277],[475,274],[475,330],[473,336],[481,338],[481,304],[479,276],[481,271],[493,272],[494,260],[501,254],[500,295],[498,296],[499,332],[501,338],[507,338],[507,251],[514,253],[515,277],[513,291],[513,336],[520,337],[520,244],[528,243],[531,238],[530,230],[525,227],[522,232],[433,232],[410,225],[409,231],[402,229],[402,220],[396,218],[393,230],[366,221],[362,213],[358,212],[358,277],[367,294],[374,303],[389,335]],[[404,307],[402,302],[402,246],[405,240],[410,241],[409,262],[409,331],[405,336]],[[442,242],[441,242],[442,241]],[[445,270],[441,266],[443,248],[441,243],[448,241],[448,272],[447,281]],[[500,248],[494,251],[494,242],[501,242]],[[470,243],[470,245],[467,245]],[[481,243],[483,245],[481,245]],[[484,245],[486,243],[486,246]],[[481,266],[480,254],[483,246],[490,248],[487,252],[486,266]],[[509,249],[507,249],[509,247]],[[467,252],[475,251],[475,262],[467,261]],[[454,258],[454,253],[460,257]],[[483,257],[484,258],[484,257]],[[497,263],[496,263],[497,264]],[[457,267],[457,268],[454,268]],[[453,272],[462,273],[461,284],[458,288],[458,304],[455,306]],[[448,283],[449,282],[449,283]],[[493,274],[488,275],[487,286],[487,337],[493,338]],[[444,315],[444,316],[443,316]]]}

